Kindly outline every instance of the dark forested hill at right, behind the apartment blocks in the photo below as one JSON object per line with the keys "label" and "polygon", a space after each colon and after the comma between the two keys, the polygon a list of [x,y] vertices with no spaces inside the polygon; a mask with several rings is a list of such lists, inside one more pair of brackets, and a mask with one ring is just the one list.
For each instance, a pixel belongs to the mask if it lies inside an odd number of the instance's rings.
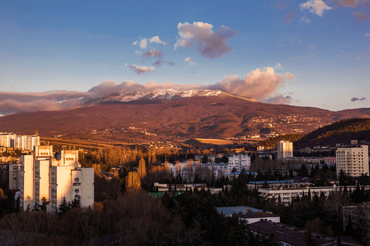
{"label": "dark forested hill at right, behind the apartment blocks", "polygon": [[353,118],[336,121],[306,134],[303,138],[297,139],[293,144],[293,148],[333,146],[336,143],[350,144],[352,139],[359,142],[370,141],[370,119]]}

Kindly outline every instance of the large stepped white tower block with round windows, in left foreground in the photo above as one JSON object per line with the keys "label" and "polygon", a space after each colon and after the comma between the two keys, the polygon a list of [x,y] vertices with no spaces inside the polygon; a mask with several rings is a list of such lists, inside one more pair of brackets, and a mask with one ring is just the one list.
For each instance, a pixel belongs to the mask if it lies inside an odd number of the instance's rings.
{"label": "large stepped white tower block with round windows, in left foreground", "polygon": [[[31,155],[20,160],[20,207],[41,204],[41,198],[51,201],[47,211],[56,212],[63,199],[80,199],[82,206],[94,203],[94,168],[81,167],[78,150],[59,150],[53,146],[34,146]],[[11,175],[11,174],[10,174]]]}

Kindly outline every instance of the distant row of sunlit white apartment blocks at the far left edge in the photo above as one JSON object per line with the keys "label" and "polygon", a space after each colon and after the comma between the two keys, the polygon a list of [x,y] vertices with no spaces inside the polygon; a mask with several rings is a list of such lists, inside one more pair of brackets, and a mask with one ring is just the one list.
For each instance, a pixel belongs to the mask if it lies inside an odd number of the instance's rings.
{"label": "distant row of sunlit white apartment blocks at the far left edge", "polygon": [[40,136],[37,135],[16,135],[9,132],[0,134],[0,146],[3,147],[32,151],[36,145],[40,145]]}

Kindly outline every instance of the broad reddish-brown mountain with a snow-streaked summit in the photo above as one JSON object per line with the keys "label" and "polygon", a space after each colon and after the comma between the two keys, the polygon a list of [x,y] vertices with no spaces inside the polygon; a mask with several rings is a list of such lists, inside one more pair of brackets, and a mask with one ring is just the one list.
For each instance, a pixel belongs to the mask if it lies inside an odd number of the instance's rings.
{"label": "broad reddish-brown mountain with a snow-streaked summit", "polygon": [[[0,131],[58,136],[71,133],[115,141],[169,136],[229,138],[251,134],[308,133],[340,119],[369,118],[361,111],[266,104],[219,90],[152,91],[112,95],[83,107],[0,117]],[[88,136],[85,136],[88,138]]]}

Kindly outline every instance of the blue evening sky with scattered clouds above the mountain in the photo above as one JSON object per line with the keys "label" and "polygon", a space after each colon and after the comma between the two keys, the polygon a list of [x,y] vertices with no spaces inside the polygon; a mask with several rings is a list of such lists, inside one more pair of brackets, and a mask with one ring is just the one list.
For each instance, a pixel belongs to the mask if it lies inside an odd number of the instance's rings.
{"label": "blue evening sky with scattered clouds above the mountain", "polygon": [[0,116],[168,89],[339,111],[369,82],[370,0],[0,4]]}

